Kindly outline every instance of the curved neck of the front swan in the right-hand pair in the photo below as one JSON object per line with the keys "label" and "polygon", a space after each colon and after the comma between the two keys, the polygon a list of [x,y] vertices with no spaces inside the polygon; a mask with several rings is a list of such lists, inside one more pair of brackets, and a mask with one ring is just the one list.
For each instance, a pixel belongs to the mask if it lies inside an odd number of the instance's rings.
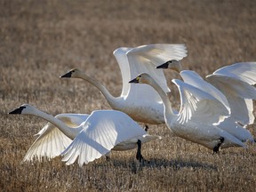
{"label": "curved neck of the front swan in the right-hand pair", "polygon": [[148,79],[147,84],[151,85],[156,90],[156,92],[158,92],[158,94],[160,95],[161,99],[164,102],[165,123],[168,119],[173,119],[176,115],[172,111],[172,103],[167,97],[167,94],[160,87],[160,85],[156,83],[156,81],[153,78]]}

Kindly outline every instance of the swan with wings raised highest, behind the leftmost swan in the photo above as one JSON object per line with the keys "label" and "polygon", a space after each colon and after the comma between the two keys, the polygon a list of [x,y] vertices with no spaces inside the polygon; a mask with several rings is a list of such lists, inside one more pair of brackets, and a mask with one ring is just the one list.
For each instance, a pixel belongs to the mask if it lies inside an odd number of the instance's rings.
{"label": "swan with wings raised highest, behind the leftmost swan", "polygon": [[145,72],[156,79],[156,82],[170,92],[163,70],[156,70],[156,66],[166,60],[181,60],[187,56],[184,44],[148,44],[135,48],[121,47],[113,52],[116,57],[123,78],[123,89],[119,97],[114,97],[98,80],[87,76],[77,68],[68,71],[60,78],[82,78],[96,86],[104,95],[111,108],[123,111],[133,120],[145,124],[164,124],[163,101],[157,92],[146,84],[134,86],[128,81],[139,73]]}

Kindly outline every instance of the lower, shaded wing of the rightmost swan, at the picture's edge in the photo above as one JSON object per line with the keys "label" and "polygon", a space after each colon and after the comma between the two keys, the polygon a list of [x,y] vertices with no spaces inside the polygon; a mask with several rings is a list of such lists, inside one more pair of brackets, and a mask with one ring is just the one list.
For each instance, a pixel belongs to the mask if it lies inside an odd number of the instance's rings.
{"label": "lower, shaded wing of the rightmost swan, at the picture's edge", "polygon": [[206,76],[206,80],[222,92],[231,109],[231,116],[241,124],[254,122],[252,100],[256,99],[254,86],[233,76],[213,74]]}

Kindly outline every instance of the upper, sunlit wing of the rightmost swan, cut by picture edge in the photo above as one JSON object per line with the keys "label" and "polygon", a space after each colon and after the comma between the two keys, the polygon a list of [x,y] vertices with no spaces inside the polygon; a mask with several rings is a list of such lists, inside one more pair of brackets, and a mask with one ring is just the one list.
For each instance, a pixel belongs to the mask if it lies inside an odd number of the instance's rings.
{"label": "upper, sunlit wing of the rightmost swan, cut by picture edge", "polygon": [[216,70],[214,75],[229,76],[246,82],[256,84],[256,62],[240,62]]}

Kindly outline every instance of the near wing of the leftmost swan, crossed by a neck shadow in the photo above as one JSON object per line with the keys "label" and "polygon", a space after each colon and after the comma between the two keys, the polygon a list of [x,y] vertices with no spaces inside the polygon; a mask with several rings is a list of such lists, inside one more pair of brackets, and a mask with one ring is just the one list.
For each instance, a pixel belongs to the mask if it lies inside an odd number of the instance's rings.
{"label": "near wing of the leftmost swan, crossed by a neck shadow", "polygon": [[116,110],[93,111],[84,124],[84,129],[63,151],[62,161],[88,164],[107,154],[111,148],[124,140],[147,134],[130,116]]}

